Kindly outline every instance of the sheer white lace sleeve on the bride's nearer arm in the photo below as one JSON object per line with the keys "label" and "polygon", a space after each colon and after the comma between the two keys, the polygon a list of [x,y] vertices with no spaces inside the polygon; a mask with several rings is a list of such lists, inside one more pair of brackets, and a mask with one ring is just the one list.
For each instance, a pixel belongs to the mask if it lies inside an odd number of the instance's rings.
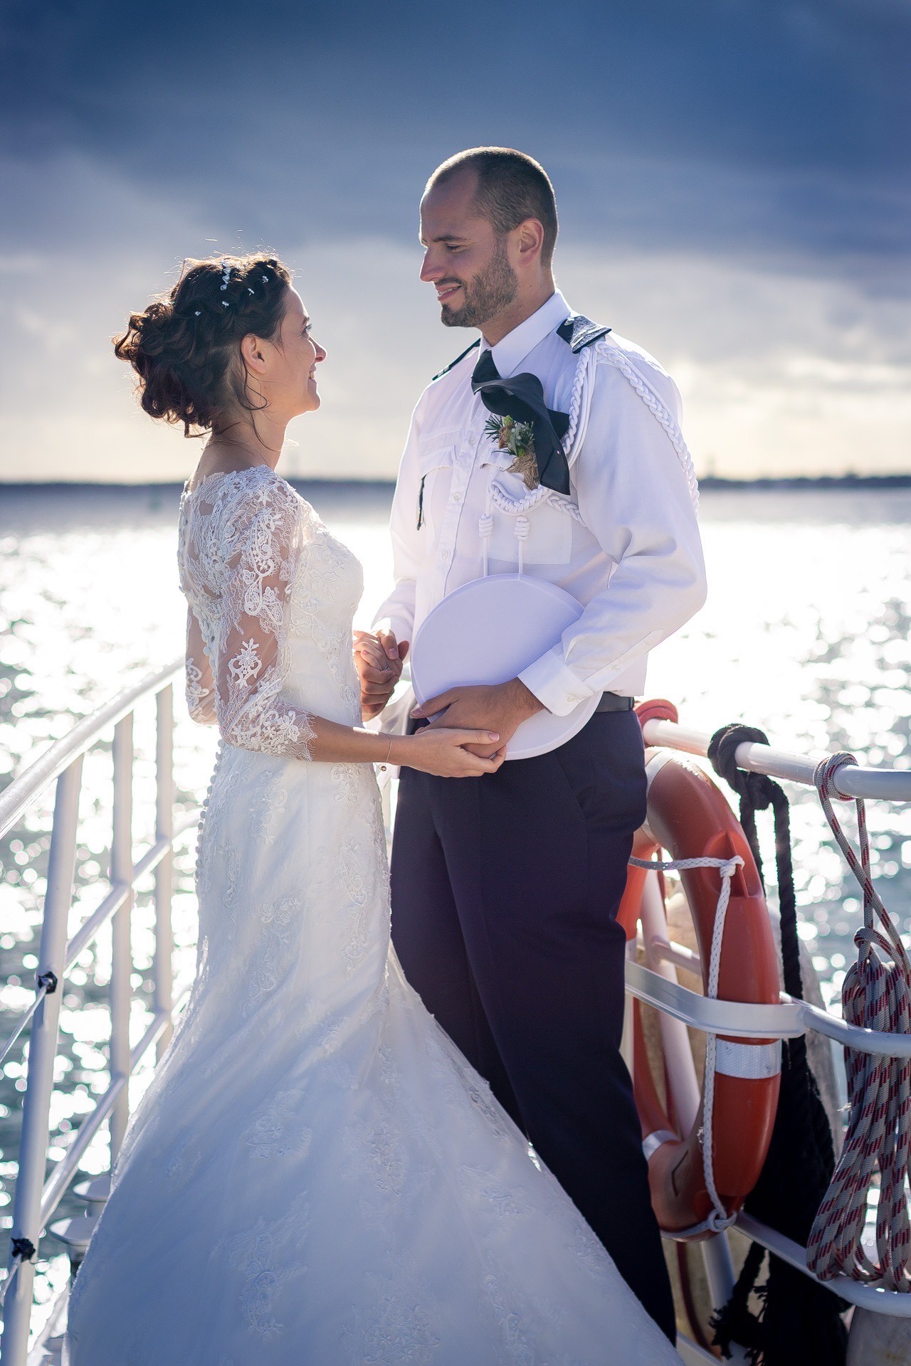
{"label": "sheer white lace sleeve on the bride's nearer arm", "polygon": [[280,697],[288,669],[288,591],[300,550],[299,529],[296,496],[277,478],[251,492],[232,516],[216,712],[229,744],[306,759],[313,739],[307,713]]}

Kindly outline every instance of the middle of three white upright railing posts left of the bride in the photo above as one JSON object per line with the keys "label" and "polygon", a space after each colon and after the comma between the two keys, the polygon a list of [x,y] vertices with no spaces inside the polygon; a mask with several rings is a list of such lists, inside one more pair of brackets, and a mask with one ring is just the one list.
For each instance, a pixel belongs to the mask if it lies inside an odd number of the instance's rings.
{"label": "middle of three white upright railing posts left of the bride", "polygon": [[[130,893],[111,922],[111,1081],[130,1075],[130,1004],[132,1001],[132,712],[113,732],[113,825],[111,835],[111,881],[127,884]],[[111,1169],[130,1117],[128,1087],[124,1086],[111,1112]]]}

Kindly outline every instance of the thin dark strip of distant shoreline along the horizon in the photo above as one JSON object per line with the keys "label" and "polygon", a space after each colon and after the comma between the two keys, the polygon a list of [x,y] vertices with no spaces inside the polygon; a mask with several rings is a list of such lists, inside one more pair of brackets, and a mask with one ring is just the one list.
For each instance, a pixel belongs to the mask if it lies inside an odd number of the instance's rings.
{"label": "thin dark strip of distant shoreline along the horizon", "polygon": [[[395,479],[321,479],[317,477],[303,477],[291,475],[288,479],[296,488],[316,488],[321,489],[324,493],[332,493],[333,490],[347,490],[356,488],[363,493],[374,494],[389,494],[395,488]],[[75,492],[76,489],[97,489],[97,490],[123,490],[132,493],[171,493],[178,492],[183,488],[179,482],[161,482],[161,484],[115,484],[108,481],[94,481],[94,479],[72,479],[72,481],[42,481],[42,479],[22,479],[22,481],[4,481],[0,479],[0,497],[4,492],[7,493],[27,493],[27,492],[46,492],[46,493],[63,493]],[[851,489],[878,489],[886,492],[889,489],[911,489],[911,473],[908,474],[822,474],[822,475],[794,475],[787,478],[773,478],[763,477],[755,479],[725,479],[717,474],[706,474],[699,479],[699,488],[703,492],[724,492],[724,493],[748,493],[751,490],[757,492],[799,492],[806,489],[809,492],[818,492],[819,489],[835,489],[848,492]]]}

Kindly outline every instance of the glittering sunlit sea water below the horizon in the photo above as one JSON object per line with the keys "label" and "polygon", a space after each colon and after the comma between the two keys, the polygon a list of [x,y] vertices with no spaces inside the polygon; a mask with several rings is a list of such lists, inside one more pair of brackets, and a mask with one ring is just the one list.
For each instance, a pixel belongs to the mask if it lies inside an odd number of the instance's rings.
{"label": "glittering sunlit sea water below the horizon", "polygon": [[[329,529],[365,567],[356,624],[369,626],[391,582],[385,485],[300,485]],[[78,717],[183,647],[178,589],[179,490],[163,488],[7,488],[0,492],[0,787]],[[714,731],[759,725],[798,753],[854,750],[860,762],[911,766],[911,490],[709,492],[702,499],[709,571],[703,611],[651,657],[647,695],[671,698],[686,723]],[[178,802],[198,805],[214,735],[176,706]],[[154,800],[153,708],[137,714],[137,848],[149,840]],[[824,993],[837,1009],[855,953],[859,891],[833,846],[813,791],[788,787],[800,934]],[[53,791],[0,841],[0,1040],[33,999]],[[845,807],[848,825],[851,809]],[[759,818],[762,821],[762,817]],[[871,802],[874,874],[903,932],[911,930],[911,806]],[[70,933],[101,897],[111,832],[111,746],[85,764]],[[773,866],[763,832],[766,866]],[[153,952],[150,881],[138,896],[132,948],[134,1040],[148,1022]],[[176,859],[179,977],[193,973],[193,837]],[[109,929],[81,955],[63,988],[59,1089],[51,1157],[66,1153],[108,1085],[105,1044]],[[141,1075],[134,1090],[148,1079]],[[0,1218],[8,1224],[25,1067],[14,1049],[0,1078]],[[107,1169],[105,1137],[83,1160]],[[61,1213],[75,1212],[72,1201]],[[42,1254],[53,1244],[45,1239]],[[40,1299],[66,1276],[41,1272]]]}

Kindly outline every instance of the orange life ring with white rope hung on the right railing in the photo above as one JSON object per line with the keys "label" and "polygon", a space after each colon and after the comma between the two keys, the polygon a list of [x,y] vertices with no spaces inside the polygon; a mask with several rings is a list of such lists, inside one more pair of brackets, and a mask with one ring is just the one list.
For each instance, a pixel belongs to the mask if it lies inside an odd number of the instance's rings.
{"label": "orange life ring with white rope hung on the right railing", "polygon": [[[669,702],[645,702],[636,712],[642,724],[651,717],[677,719]],[[672,859],[729,859],[735,855],[743,859],[731,882],[717,996],[727,1001],[777,1004],[776,944],[762,884],[743,829],[724,795],[702,769],[669,751],[656,750],[650,762],[646,825],[636,835],[634,855],[649,859],[660,850],[667,850]],[[647,876],[643,869],[630,867],[619,911],[628,940],[635,938]],[[717,869],[691,869],[682,872],[680,877],[694,921],[706,990],[721,878]],[[724,1035],[718,1035],[716,1048],[713,1175],[720,1201],[731,1217],[755,1186],[769,1150],[779,1104],[780,1048],[776,1040]],[[695,1123],[688,1134],[682,1135],[654,1085],[638,1001],[634,1001],[632,1082],[658,1224],[664,1232],[677,1238],[709,1236],[716,1206],[706,1186],[702,1152],[705,1089]]]}

